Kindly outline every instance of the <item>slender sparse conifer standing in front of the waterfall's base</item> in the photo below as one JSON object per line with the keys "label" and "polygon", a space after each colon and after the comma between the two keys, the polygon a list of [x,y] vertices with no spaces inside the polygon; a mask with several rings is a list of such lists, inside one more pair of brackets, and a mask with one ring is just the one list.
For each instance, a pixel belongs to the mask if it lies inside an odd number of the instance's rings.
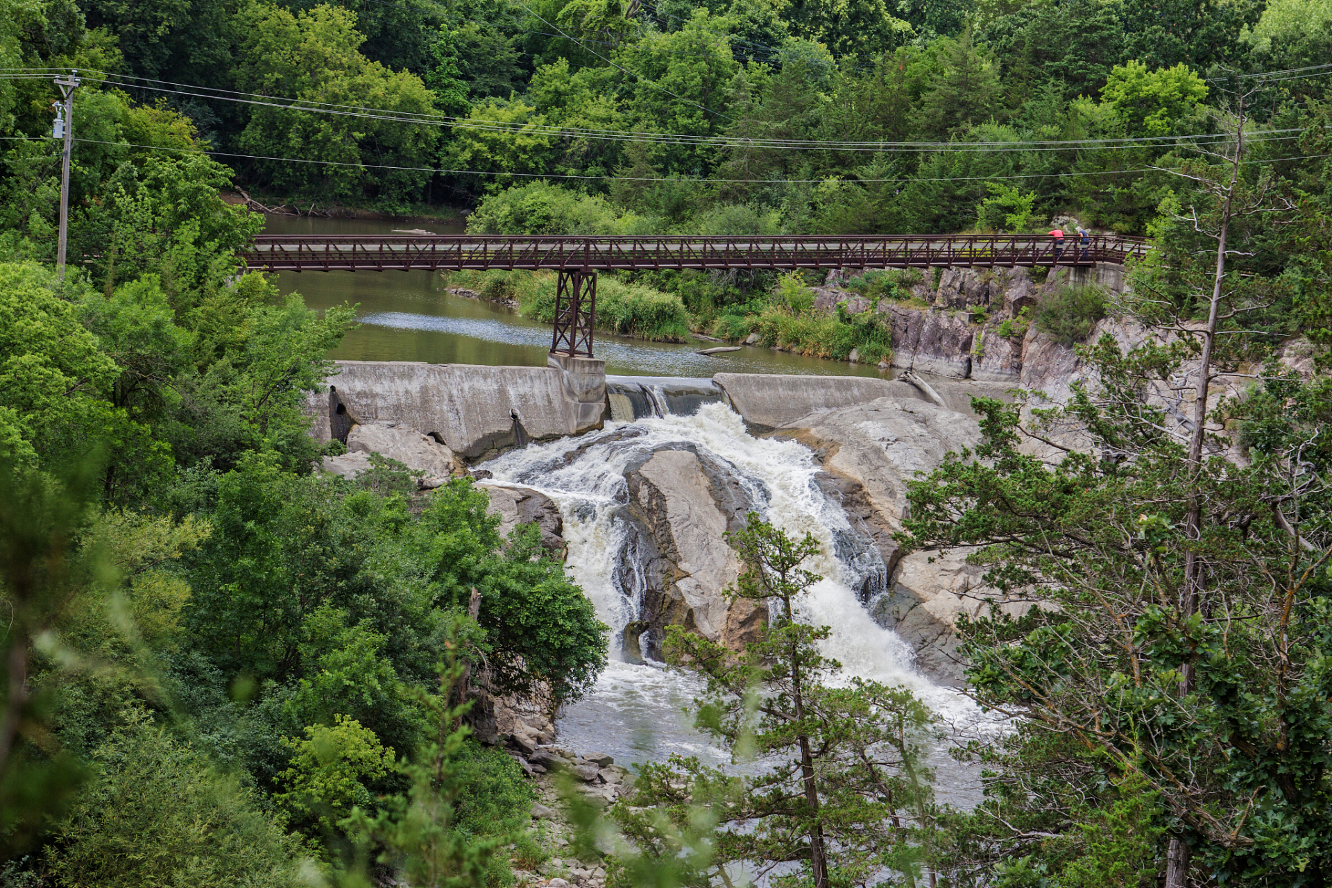
{"label": "slender sparse conifer standing in front of the waterfall's base", "polygon": [[[697,726],[737,762],[762,767],[738,777],[677,756],[643,767],[634,804],[655,805],[677,828],[698,805],[719,827],[749,824],[714,835],[714,867],[747,860],[766,872],[797,861],[817,888],[859,883],[884,867],[914,879],[931,859],[922,747],[932,715],[903,688],[831,684],[840,666],[818,650],[829,628],[799,619],[801,596],[821,579],[801,566],[818,551],[813,537],[791,539],[751,513],[729,539],[747,570],[727,594],[774,606],[771,626],[739,656],[678,626],[665,650],[707,679]],[[625,823],[631,835],[650,831],[643,817]]]}

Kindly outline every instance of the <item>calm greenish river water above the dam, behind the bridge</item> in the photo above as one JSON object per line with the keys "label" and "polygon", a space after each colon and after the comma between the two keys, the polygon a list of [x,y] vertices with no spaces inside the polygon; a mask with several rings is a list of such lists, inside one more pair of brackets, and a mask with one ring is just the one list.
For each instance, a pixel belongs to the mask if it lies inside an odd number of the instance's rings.
{"label": "calm greenish river water above the dam, behind the bridge", "polygon": [[[388,234],[424,229],[462,234],[462,224],[381,222],[342,218],[270,216],[265,234]],[[432,272],[282,272],[281,292],[300,293],[313,309],[357,305],[358,328],[330,354],[348,361],[425,361],[543,366],[550,351],[550,325],[518,317],[502,306],[452,296]],[[750,346],[741,351],[701,355],[718,343],[643,342],[597,334],[594,353],[606,371],[621,375],[710,377],[714,373],[798,373],[880,375],[872,365],[805,358]]]}

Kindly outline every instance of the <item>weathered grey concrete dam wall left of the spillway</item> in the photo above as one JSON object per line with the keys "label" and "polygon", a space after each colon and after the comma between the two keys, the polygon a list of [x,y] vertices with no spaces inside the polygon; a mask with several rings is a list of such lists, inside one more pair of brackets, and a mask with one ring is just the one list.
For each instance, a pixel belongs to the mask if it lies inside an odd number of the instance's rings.
{"label": "weathered grey concrete dam wall left of the spillway", "polygon": [[330,410],[337,427],[341,403],[352,422],[397,421],[476,462],[518,445],[519,435],[542,441],[599,427],[605,413],[605,382],[594,385],[605,378],[603,361],[571,371],[412,361],[338,361],[338,369],[328,379],[329,395],[310,401],[320,438],[332,434]]}

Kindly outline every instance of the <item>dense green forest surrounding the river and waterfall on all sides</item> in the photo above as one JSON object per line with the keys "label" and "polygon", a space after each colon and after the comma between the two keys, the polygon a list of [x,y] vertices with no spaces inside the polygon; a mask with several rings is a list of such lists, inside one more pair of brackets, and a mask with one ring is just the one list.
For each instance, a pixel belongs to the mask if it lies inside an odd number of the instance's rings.
{"label": "dense green forest surrounding the river and waterfall on all sides", "polygon": [[[0,887],[501,888],[567,875],[557,851],[618,888],[1332,877],[1325,0],[0,0]],[[553,847],[473,678],[553,715],[607,627],[472,478],[313,470],[354,309],[238,273],[264,225],[238,194],[490,234],[1152,238],[1134,298],[1031,318],[1099,387],[978,401],[983,443],[910,491],[904,547],[1039,590],[960,627],[1010,719],[954,748],[984,800],[935,799],[944,726],[839,676],[793,603],[813,539],[751,517],[731,592],[773,626],[666,652],[707,683],[699,730],[770,767],[650,764],[610,815],[570,791]],[[870,310],[817,314],[817,282],[606,276],[601,324],[878,362],[872,306],[919,302],[864,273]],[[553,312],[539,274],[453,284]],[[1179,335],[1083,342],[1107,314]],[[1148,403],[1199,366],[1252,387]],[[1091,443],[1019,447],[1054,423]]]}

